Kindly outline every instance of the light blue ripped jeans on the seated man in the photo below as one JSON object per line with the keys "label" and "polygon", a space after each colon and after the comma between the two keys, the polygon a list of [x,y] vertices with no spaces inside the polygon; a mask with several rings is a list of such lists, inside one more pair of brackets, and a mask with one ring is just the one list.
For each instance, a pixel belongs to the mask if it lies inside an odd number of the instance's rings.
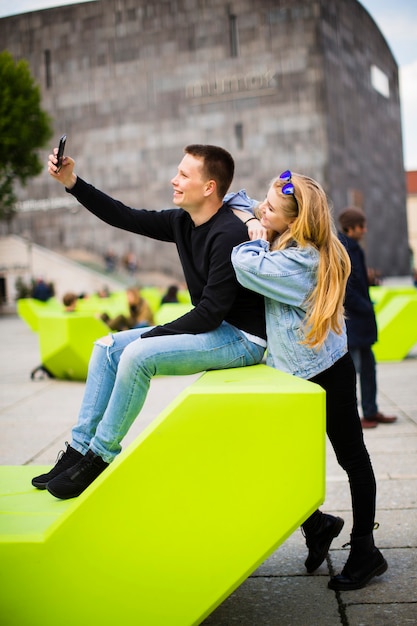
{"label": "light blue ripped jeans on the seated man", "polygon": [[151,378],[256,365],[265,349],[223,322],[198,335],[141,338],[149,328],[126,330],[96,341],[71,446],[91,449],[107,463],[145,402]]}

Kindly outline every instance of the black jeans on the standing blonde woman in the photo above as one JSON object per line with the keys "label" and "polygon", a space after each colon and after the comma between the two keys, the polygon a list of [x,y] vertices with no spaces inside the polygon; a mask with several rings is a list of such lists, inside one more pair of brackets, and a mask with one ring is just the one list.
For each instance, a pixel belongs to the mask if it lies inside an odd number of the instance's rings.
{"label": "black jeans on the standing blonde woman", "polygon": [[349,478],[352,536],[368,535],[375,521],[376,482],[363,440],[356,398],[356,371],[350,354],[345,354],[328,370],[310,380],[326,391],[327,436],[339,465]]}

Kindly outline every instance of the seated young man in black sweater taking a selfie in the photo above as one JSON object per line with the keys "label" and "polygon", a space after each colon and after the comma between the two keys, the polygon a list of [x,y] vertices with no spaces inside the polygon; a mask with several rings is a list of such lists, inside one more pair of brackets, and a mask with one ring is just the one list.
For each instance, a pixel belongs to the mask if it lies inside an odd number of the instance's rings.
{"label": "seated young man in black sweater taking a selfie", "polygon": [[191,145],[171,180],[165,211],[137,210],[98,191],[74,173],[65,157],[49,173],[91,213],[130,232],[174,242],[194,308],[151,329],[122,331],[98,340],[90,359],[71,445],[55,467],[32,484],[57,498],[78,496],[121,451],[156,375],[186,375],[255,365],[266,346],[263,298],[242,288],[231,264],[247,227],[223,205],[234,174],[231,155],[217,146]]}

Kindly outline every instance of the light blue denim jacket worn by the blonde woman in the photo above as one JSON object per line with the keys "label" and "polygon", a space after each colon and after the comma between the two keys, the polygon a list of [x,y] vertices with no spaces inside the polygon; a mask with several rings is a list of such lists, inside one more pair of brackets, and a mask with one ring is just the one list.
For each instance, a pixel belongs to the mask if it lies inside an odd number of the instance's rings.
{"label": "light blue denim jacket worn by the blonde woman", "polygon": [[236,246],[232,263],[241,285],[265,297],[268,365],[310,379],[347,352],[345,326],[340,335],[330,332],[319,349],[300,343],[305,302],[314,289],[319,263],[313,246],[294,243],[271,252],[268,242],[257,239]]}

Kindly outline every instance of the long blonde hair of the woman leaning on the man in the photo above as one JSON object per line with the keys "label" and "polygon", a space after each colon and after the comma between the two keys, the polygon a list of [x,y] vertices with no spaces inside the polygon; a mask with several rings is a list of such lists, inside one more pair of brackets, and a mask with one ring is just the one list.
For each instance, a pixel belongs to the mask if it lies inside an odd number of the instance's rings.
{"label": "long blonde hair of the woman leaning on the man", "polygon": [[[281,199],[280,207],[294,220],[290,228],[277,236],[272,250],[282,250],[292,241],[299,246],[314,246],[320,254],[317,283],[306,301],[305,339],[302,343],[319,348],[332,330],[343,329],[346,282],[350,274],[350,259],[337,238],[336,228],[323,188],[312,178],[292,173],[294,195],[281,191],[286,181],[275,178],[271,182]],[[284,202],[282,202],[282,199]]]}

